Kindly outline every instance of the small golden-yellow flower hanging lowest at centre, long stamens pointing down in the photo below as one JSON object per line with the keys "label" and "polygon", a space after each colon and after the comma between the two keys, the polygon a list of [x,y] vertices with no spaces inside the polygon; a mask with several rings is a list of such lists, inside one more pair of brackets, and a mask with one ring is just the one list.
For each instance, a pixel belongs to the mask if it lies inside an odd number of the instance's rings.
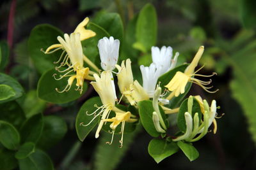
{"label": "small golden-yellow flower hanging lowest at centre, long stamens pointing down", "polygon": [[113,122],[112,124],[110,124],[110,128],[113,130],[111,133],[112,133],[112,138],[111,138],[111,142],[107,142],[109,145],[112,144],[113,142],[113,137],[114,137],[114,134],[115,134],[115,130],[116,130],[116,127],[122,123],[122,127],[121,127],[121,131],[120,131],[120,134],[122,134],[121,136],[121,139],[119,141],[120,143],[120,147],[123,146],[123,139],[124,139],[124,128],[125,128],[125,122],[136,122],[138,119],[136,118],[131,118],[132,117],[132,114],[130,111],[127,111],[125,113],[123,112],[115,112],[116,116],[113,117],[113,118],[106,118],[106,119],[102,119],[100,120],[100,122]]}

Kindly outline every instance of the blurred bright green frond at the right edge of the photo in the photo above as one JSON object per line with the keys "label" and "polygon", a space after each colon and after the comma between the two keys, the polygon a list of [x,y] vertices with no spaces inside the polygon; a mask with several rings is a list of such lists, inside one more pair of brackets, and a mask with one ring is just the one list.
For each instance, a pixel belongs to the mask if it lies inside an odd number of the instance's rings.
{"label": "blurred bright green frond at the right edge of the photo", "polygon": [[234,70],[234,79],[230,83],[232,96],[241,104],[248,121],[248,130],[252,134],[253,141],[256,143],[255,48],[256,41],[253,40],[246,43],[246,46],[240,47],[241,50],[231,53],[231,56],[225,56],[225,59]]}

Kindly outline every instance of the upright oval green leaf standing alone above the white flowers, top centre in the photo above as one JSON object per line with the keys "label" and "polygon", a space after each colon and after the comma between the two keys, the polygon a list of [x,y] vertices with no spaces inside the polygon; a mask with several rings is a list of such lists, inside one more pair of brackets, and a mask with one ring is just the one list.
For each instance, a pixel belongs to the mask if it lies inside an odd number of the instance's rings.
{"label": "upright oval green leaf standing alone above the white flowers, top centre", "polygon": [[140,11],[136,25],[136,43],[134,48],[148,52],[151,46],[156,45],[157,15],[152,4],[146,4]]}

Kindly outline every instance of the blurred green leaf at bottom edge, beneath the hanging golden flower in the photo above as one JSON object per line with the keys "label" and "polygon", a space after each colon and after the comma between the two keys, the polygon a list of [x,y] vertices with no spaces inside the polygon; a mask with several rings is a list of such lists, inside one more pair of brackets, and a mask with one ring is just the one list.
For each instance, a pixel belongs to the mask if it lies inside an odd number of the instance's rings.
{"label": "blurred green leaf at bottom edge, beneath the hanging golden flower", "polygon": [[100,134],[99,143],[97,145],[95,153],[94,166],[95,170],[113,170],[121,162],[127,150],[135,140],[136,135],[141,131],[141,127],[136,128],[136,130],[130,134],[124,135],[124,145],[122,148],[120,146],[119,140],[120,135],[115,135],[112,145],[106,144],[106,142],[111,141],[111,134],[102,133]]}

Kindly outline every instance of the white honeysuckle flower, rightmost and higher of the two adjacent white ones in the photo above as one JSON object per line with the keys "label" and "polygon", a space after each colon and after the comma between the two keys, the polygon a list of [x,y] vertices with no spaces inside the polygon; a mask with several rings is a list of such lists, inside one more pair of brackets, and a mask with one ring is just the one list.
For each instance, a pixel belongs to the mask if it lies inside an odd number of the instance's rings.
{"label": "white honeysuckle flower, rightmost and higher of the two adjacent white ones", "polygon": [[161,69],[160,75],[166,73],[177,64],[179,53],[175,53],[175,57],[172,60],[172,47],[162,46],[161,50],[157,46],[151,48],[152,60],[156,64],[157,68]]}

